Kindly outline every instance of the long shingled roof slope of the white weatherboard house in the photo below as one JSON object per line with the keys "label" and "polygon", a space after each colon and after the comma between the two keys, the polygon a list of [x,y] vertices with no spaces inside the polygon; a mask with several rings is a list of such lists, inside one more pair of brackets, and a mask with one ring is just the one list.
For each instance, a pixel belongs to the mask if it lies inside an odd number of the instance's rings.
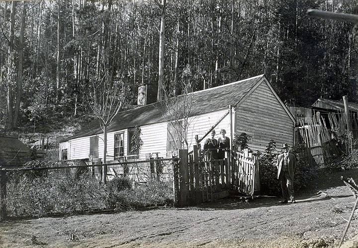
{"label": "long shingled roof slope of the white weatherboard house", "polygon": [[[235,106],[257,83],[262,82],[263,79],[265,79],[265,76],[259,75],[250,79],[190,93],[194,96],[191,116],[228,109],[229,105]],[[178,97],[184,97],[184,95],[179,95]],[[108,132],[165,121],[167,121],[167,119],[162,104],[156,102],[119,112],[109,126]],[[94,120],[89,123],[87,128],[69,137],[69,139],[101,133],[103,133],[103,131],[99,127],[99,122]]]}

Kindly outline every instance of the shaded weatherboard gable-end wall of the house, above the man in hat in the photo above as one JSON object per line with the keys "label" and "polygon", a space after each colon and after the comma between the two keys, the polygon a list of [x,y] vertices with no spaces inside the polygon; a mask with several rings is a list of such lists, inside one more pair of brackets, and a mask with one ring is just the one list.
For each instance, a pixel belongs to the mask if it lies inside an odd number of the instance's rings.
{"label": "shaded weatherboard gable-end wall of the house, above the man in hat", "polygon": [[276,146],[293,145],[294,122],[263,81],[236,109],[236,134],[247,133],[249,148],[264,152],[272,139]]}

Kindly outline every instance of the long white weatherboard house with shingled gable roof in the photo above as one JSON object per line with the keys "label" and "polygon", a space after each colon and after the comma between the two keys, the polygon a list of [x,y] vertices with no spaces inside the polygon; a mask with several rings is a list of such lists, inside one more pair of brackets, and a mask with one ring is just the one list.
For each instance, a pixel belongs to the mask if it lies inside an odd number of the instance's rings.
{"label": "long white weatherboard house with shingled gable roof", "polygon": [[[195,144],[195,135],[202,138],[220,119],[215,127],[216,138],[221,128],[226,130],[229,138],[244,132],[249,135],[249,147],[253,151],[264,151],[271,139],[278,146],[294,143],[295,119],[264,75],[191,94],[194,104],[187,135],[189,150]],[[171,125],[161,106],[153,103],[118,113],[108,129],[106,160],[131,156],[145,159],[148,153],[171,156],[171,135],[168,134]],[[136,126],[141,128],[143,146],[138,154],[131,154],[130,138]],[[69,160],[87,159],[90,154],[93,158],[103,158],[102,137],[102,130],[93,121],[89,127],[60,144],[60,159],[64,154]],[[201,146],[205,140],[206,137]]]}

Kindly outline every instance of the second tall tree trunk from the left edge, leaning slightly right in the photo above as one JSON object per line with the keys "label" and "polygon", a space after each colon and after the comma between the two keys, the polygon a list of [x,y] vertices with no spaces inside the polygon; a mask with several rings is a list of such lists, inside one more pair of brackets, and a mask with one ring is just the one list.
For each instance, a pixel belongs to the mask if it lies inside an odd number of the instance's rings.
{"label": "second tall tree trunk from the left edge, leaning slightly right", "polygon": [[21,24],[20,24],[20,37],[19,37],[19,51],[18,51],[18,66],[17,66],[17,81],[16,81],[16,103],[15,113],[13,119],[13,127],[17,127],[17,119],[20,110],[20,101],[22,94],[22,63],[23,63],[23,50],[24,50],[24,29],[25,29],[25,15],[26,15],[26,1],[22,5]]}

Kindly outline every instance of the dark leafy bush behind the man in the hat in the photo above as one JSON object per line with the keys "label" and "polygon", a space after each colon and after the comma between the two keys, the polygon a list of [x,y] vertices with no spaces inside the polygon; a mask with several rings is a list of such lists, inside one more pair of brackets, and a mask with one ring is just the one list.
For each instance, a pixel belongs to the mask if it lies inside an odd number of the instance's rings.
{"label": "dark leafy bush behind the man in the hat", "polygon": [[[303,145],[299,145],[291,149],[290,153],[296,155],[300,150],[304,149]],[[271,140],[267,145],[265,153],[259,159],[261,193],[264,195],[281,196],[281,186],[277,179],[277,151],[276,143]],[[296,157],[297,158],[297,157]],[[294,167],[294,190],[308,190],[317,178],[317,172],[311,168],[308,161],[302,158],[296,160]]]}

